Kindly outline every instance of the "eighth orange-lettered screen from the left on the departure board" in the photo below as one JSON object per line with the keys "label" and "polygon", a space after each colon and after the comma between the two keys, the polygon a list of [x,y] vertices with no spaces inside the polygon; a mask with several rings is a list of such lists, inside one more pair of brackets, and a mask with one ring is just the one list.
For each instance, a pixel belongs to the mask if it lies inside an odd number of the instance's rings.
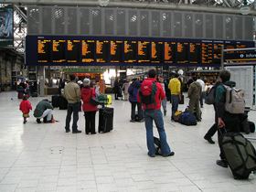
{"label": "eighth orange-lettered screen from the left on the departure board", "polygon": [[138,41],[138,62],[150,62],[151,60],[151,42]]}

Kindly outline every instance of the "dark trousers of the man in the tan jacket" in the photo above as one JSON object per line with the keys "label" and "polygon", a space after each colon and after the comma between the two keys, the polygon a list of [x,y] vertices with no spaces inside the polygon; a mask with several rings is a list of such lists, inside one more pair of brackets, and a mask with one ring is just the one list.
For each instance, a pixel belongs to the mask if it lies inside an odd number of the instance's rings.
{"label": "dark trousers of the man in the tan jacket", "polygon": [[68,111],[67,111],[66,126],[65,126],[66,130],[69,130],[69,123],[71,121],[72,113],[73,113],[72,131],[76,132],[78,130],[79,111],[80,111],[80,102],[68,103]]}

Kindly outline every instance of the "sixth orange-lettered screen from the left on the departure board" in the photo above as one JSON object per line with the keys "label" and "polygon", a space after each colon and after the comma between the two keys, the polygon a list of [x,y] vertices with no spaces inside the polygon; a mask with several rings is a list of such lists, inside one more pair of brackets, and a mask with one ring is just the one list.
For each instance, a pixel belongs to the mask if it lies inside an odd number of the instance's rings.
{"label": "sixth orange-lettered screen from the left on the departure board", "polygon": [[123,60],[123,41],[111,41],[111,62],[120,62]]}

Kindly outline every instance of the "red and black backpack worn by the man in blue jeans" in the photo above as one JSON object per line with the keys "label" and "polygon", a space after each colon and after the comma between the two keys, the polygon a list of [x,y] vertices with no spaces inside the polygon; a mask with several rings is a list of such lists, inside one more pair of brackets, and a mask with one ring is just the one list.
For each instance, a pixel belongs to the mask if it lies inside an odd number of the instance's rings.
{"label": "red and black backpack worn by the man in blue jeans", "polygon": [[155,81],[151,83],[143,83],[139,90],[139,96],[142,103],[148,105],[155,103],[155,93],[156,93],[156,84]]}

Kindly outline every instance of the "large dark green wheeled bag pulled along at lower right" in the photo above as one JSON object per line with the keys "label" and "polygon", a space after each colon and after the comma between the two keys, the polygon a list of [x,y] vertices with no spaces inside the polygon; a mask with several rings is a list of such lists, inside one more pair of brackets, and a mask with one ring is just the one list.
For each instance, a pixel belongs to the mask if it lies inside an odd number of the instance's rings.
{"label": "large dark green wheeled bag pulled along at lower right", "polygon": [[247,179],[256,170],[255,148],[241,133],[224,133],[220,144],[235,179]]}

